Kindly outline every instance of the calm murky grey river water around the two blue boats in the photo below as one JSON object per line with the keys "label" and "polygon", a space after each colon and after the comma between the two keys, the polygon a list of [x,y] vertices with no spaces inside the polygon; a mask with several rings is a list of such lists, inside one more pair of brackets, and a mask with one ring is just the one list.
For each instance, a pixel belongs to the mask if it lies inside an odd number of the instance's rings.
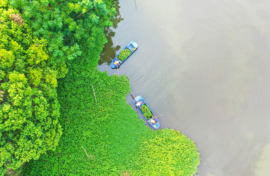
{"label": "calm murky grey river water around the two blue boats", "polygon": [[[135,4],[136,3],[136,4]],[[200,149],[200,176],[270,175],[270,1],[120,0],[99,67],[119,68],[161,128]],[[135,109],[132,98],[127,101]]]}

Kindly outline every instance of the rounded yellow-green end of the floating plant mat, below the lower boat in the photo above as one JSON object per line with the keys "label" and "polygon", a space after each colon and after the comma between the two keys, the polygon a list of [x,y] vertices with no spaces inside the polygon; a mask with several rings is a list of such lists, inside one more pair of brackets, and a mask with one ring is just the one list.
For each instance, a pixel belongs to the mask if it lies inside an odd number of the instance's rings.
{"label": "rounded yellow-green end of the floating plant mat, below the lower boat", "polygon": [[196,145],[174,129],[154,131],[141,145],[141,169],[136,176],[192,176],[197,172],[200,156]]}

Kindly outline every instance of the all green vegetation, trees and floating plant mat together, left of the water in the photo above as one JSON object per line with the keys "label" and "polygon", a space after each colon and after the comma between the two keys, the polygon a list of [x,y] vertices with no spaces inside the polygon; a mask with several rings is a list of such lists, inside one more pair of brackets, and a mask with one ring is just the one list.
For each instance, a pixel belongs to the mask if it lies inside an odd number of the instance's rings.
{"label": "all green vegetation, trees and floating plant mat together, left of the water", "polygon": [[194,142],[145,126],[126,102],[128,78],[97,69],[115,2],[10,2],[0,3],[0,175],[197,172]]}

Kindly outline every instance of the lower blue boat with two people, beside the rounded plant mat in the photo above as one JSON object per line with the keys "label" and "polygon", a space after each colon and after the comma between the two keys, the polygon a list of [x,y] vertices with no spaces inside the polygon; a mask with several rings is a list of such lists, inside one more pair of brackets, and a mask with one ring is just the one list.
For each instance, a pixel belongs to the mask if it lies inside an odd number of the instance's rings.
{"label": "lower blue boat with two people, beside the rounded plant mat", "polygon": [[[149,106],[146,104],[146,102],[144,102],[144,99],[141,96],[137,96],[133,99],[134,104],[136,105],[136,107],[141,111],[142,115],[144,116],[141,107],[143,105],[146,105],[148,108]],[[152,118],[150,120],[147,120],[146,117],[144,116],[145,120],[155,129],[159,128],[159,120],[156,118],[156,116],[154,115],[154,113],[152,112],[152,110],[149,108],[149,110],[152,113]]]}

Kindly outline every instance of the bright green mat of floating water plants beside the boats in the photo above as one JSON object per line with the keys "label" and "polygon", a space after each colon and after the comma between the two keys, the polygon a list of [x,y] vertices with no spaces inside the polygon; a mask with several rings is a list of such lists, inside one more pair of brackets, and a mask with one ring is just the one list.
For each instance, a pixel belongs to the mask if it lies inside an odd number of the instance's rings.
{"label": "bright green mat of floating water plants beside the boats", "polygon": [[[131,90],[128,78],[96,69],[103,40],[101,35],[93,38],[95,49],[87,39],[79,43],[82,56],[70,62],[70,71],[58,81],[63,128],[59,146],[27,163],[22,174],[192,175],[200,159],[194,142],[175,130],[151,130],[138,119],[125,101]],[[150,172],[151,163],[156,162],[157,171]]]}

